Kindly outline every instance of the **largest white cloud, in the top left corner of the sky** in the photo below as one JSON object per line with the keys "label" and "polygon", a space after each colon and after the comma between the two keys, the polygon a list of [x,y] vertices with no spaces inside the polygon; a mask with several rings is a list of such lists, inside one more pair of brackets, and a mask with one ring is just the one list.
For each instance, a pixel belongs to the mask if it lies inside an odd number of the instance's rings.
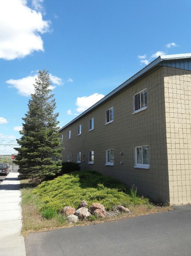
{"label": "largest white cloud, in the top left corner of the sky", "polygon": [[[40,2],[33,6],[40,9]],[[41,9],[42,11],[42,9]],[[6,0],[0,8],[0,58],[24,58],[33,51],[44,51],[40,34],[48,32],[50,21],[41,12],[30,9],[26,0]]]}

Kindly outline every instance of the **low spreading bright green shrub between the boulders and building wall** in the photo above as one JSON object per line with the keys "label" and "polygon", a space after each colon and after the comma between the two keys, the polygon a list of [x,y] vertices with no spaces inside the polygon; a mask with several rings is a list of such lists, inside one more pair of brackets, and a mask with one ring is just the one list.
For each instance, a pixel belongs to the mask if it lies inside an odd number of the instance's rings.
{"label": "low spreading bright green shrub between the boulders and building wall", "polygon": [[65,206],[77,208],[82,200],[86,200],[88,207],[92,203],[101,203],[106,210],[118,204],[128,207],[149,202],[147,198],[131,193],[118,180],[90,170],[71,172],[42,182],[33,193],[40,196],[43,205],[58,212]]}

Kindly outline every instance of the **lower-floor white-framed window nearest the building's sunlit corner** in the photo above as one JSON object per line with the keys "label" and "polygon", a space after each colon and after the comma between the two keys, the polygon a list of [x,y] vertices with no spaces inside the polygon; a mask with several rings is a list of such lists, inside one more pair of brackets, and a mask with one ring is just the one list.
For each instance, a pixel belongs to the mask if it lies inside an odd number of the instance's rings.
{"label": "lower-floor white-framed window nearest the building's sunlit corner", "polygon": [[135,147],[135,168],[149,168],[149,146]]}

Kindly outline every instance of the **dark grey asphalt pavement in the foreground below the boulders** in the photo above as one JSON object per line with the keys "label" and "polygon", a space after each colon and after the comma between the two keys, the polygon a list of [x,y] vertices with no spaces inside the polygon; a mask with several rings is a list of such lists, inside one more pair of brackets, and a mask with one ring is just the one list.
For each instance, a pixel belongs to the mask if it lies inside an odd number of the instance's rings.
{"label": "dark grey asphalt pavement in the foreground below the boulders", "polygon": [[124,221],[32,233],[27,256],[191,255],[191,205]]}

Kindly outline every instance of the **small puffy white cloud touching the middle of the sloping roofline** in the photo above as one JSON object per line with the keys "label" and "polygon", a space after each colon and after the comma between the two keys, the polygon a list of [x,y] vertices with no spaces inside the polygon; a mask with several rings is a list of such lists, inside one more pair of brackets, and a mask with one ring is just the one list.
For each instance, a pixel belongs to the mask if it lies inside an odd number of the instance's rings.
{"label": "small puffy white cloud touching the middle of the sloping roofline", "polygon": [[87,96],[78,97],[76,100],[76,106],[78,106],[76,111],[79,113],[85,111],[86,109],[94,105],[96,102],[101,100],[103,97],[104,97],[103,94],[98,94],[98,93],[94,93],[88,97]]}

